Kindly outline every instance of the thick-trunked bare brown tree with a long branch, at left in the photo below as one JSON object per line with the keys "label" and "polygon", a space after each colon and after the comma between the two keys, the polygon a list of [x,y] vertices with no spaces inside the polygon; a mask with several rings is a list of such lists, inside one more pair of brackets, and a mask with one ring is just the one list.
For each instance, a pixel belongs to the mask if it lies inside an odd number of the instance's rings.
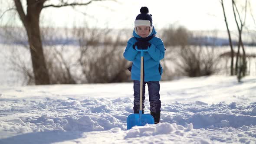
{"label": "thick-trunked bare brown tree with a long branch, at left", "polygon": [[49,72],[46,67],[46,61],[43,53],[42,39],[40,35],[39,16],[41,11],[47,7],[75,7],[86,6],[94,1],[102,0],[89,0],[88,2],[76,2],[68,3],[67,0],[59,0],[59,4],[46,4],[49,0],[26,0],[26,13],[21,0],[13,0],[13,8],[8,9],[16,10],[20,16],[20,20],[26,29],[28,42],[30,46],[30,53],[33,65],[33,73],[36,85],[50,84]]}

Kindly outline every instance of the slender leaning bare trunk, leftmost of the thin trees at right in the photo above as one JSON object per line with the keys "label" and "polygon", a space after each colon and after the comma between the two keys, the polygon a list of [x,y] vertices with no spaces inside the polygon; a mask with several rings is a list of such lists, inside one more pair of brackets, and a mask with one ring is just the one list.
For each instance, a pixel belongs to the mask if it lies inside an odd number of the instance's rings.
{"label": "slender leaning bare trunk, leftmost of the thin trees at right", "polygon": [[225,23],[226,23],[227,33],[228,33],[228,36],[229,36],[229,44],[230,44],[230,50],[231,50],[230,75],[234,75],[234,72],[233,72],[234,50],[233,50],[233,45],[232,45],[232,39],[231,39],[230,29],[228,27],[228,23],[227,23],[227,19],[226,19],[226,13],[225,13],[225,8],[224,8],[223,0],[220,0],[220,3],[221,3],[221,6],[222,6],[222,9],[223,9],[223,15],[224,15]]}

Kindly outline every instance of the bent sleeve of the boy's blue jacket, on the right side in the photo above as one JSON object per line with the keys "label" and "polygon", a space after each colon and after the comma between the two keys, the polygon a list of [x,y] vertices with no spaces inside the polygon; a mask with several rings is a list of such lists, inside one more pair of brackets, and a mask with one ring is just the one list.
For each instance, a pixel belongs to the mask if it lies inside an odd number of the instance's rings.
{"label": "bent sleeve of the boy's blue jacket, on the right side", "polygon": [[151,44],[151,46],[148,49],[148,54],[156,62],[160,61],[161,59],[164,59],[164,43],[162,42],[161,39],[159,39],[158,45],[155,46]]}

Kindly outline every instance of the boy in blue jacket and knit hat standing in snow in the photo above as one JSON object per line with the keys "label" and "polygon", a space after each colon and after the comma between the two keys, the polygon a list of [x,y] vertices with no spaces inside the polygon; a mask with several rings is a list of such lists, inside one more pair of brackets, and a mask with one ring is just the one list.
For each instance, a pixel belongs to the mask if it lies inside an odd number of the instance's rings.
{"label": "boy in blue jacket and knit hat standing in snow", "polygon": [[156,31],[152,25],[152,15],[148,14],[147,7],[141,7],[140,14],[135,19],[135,28],[133,36],[128,40],[124,57],[128,61],[133,62],[131,66],[131,79],[134,89],[134,113],[139,113],[140,101],[140,62],[141,54],[135,49],[148,49],[144,52],[144,68],[143,68],[143,97],[142,97],[142,112],[144,109],[145,100],[145,85],[148,85],[148,94],[150,101],[150,114],[154,117],[155,124],[160,120],[160,84],[161,75],[163,73],[160,60],[164,58],[163,41],[156,37]]}

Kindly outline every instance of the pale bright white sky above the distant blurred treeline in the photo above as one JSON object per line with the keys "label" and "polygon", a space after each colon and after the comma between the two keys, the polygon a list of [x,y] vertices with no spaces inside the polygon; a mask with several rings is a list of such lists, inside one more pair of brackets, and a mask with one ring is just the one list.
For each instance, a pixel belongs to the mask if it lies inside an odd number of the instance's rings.
{"label": "pale bright white sky above the distant blurred treeline", "polygon": [[[49,0],[47,3],[57,3],[57,1]],[[245,0],[237,1],[238,6],[245,3]],[[249,2],[252,14],[256,17],[256,10],[253,10],[256,1],[249,0]],[[235,30],[237,28],[230,0],[224,0],[224,5],[230,29]],[[85,26],[86,22],[89,27],[133,28],[140,8],[144,6],[148,7],[149,13],[152,14],[153,25],[157,29],[181,25],[190,30],[226,30],[220,0],[108,0],[93,2],[87,7],[77,7],[75,10],[72,7],[50,7],[43,9],[40,24],[41,26],[73,27],[74,23],[76,26]],[[240,10],[242,10],[241,7]],[[5,14],[4,17],[7,19],[10,15]],[[244,16],[241,15],[241,17]],[[21,25],[20,21],[15,23]],[[249,7],[246,26],[248,29],[256,29]]]}

